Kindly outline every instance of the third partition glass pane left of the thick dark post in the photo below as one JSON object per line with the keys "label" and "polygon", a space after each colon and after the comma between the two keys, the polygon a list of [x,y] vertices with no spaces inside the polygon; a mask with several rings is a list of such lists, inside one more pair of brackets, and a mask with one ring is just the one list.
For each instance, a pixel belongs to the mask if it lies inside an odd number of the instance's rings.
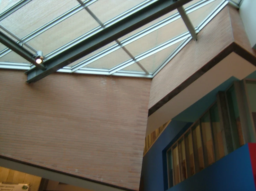
{"label": "third partition glass pane left of the thick dark post", "polygon": [[195,153],[195,169],[196,172],[199,172],[204,169],[204,156],[200,133],[200,125],[198,123],[194,127],[192,127],[192,136]]}

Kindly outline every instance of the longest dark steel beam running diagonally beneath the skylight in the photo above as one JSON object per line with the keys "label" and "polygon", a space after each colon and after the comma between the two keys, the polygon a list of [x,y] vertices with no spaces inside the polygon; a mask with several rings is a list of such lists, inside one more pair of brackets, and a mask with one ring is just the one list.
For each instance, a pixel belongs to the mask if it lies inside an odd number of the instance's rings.
{"label": "longest dark steel beam running diagonally beneath the skylight", "polygon": [[60,52],[56,56],[44,62],[47,66],[45,71],[32,69],[27,71],[27,83],[36,82],[49,74],[67,66],[68,64],[86,56],[87,54],[105,46],[106,44],[142,27],[164,14],[183,6],[191,0],[162,0],[156,1],[149,6],[131,14],[113,25],[99,31],[93,36],[75,44],[73,47]]}

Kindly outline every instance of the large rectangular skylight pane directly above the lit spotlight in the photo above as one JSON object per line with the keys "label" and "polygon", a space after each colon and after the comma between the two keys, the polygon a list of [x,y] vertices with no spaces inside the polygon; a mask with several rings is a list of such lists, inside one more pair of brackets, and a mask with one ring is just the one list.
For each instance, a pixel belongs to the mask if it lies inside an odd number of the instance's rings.
{"label": "large rectangular skylight pane directly above the lit spotlight", "polygon": [[86,10],[81,10],[56,26],[48,29],[28,43],[44,55],[96,28],[99,24]]}

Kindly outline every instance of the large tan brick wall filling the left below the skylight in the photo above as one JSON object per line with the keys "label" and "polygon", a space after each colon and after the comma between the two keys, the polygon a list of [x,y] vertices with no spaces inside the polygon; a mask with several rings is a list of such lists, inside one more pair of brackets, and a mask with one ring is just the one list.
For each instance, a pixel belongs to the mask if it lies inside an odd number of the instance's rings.
{"label": "large tan brick wall filling the left below the skylight", "polygon": [[0,153],[139,189],[151,80],[1,70]]}

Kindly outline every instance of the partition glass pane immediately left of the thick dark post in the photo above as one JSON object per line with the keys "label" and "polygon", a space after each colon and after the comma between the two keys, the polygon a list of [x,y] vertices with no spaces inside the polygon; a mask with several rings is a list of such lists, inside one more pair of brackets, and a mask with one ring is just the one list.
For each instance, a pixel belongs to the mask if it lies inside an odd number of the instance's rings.
{"label": "partition glass pane immediately left of the thick dark post", "polygon": [[210,109],[210,113],[211,113],[213,140],[214,140],[214,147],[215,147],[215,157],[216,157],[216,160],[219,160],[222,157],[224,157],[225,153],[224,153],[224,145],[223,145],[223,139],[222,139],[222,131],[220,127],[219,111],[216,103]]}

